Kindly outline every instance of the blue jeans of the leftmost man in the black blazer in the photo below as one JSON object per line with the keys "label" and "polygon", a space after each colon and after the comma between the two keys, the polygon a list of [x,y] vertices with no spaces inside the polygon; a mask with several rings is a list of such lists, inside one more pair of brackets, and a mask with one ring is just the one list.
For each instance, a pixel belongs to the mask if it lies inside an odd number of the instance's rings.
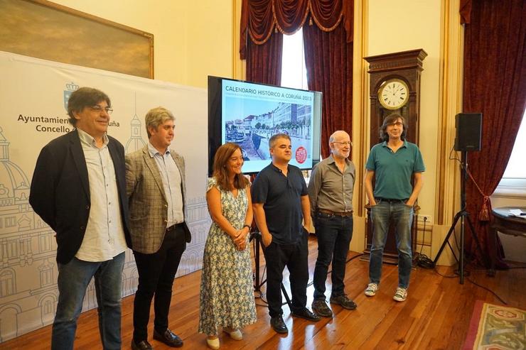
{"label": "blue jeans of the leftmost man in the black blazer", "polygon": [[112,260],[81,261],[73,258],[58,264],[58,305],[51,349],[73,349],[77,319],[82,311],[82,300],[87,285],[95,276],[99,332],[103,349],[121,349],[121,295],[124,252]]}

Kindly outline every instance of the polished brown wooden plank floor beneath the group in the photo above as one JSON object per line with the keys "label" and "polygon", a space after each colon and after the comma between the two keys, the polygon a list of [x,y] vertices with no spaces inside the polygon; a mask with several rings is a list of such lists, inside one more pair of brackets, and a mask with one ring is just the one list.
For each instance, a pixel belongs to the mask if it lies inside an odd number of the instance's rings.
{"label": "polished brown wooden plank floor beneath the group", "polygon": [[[316,261],[316,238],[309,240],[309,271],[312,280]],[[349,257],[355,254],[349,253]],[[264,259],[262,258],[263,270]],[[438,269],[451,275],[452,268]],[[200,271],[176,279],[170,312],[170,329],[184,341],[183,349],[208,349],[205,335],[198,334]],[[496,292],[508,305],[526,309],[526,270],[498,271],[495,278],[485,270],[471,271],[471,280]],[[330,278],[329,278],[330,280]],[[258,306],[256,324],[246,327],[244,339],[235,341],[220,335],[221,349],[461,349],[468,332],[476,300],[501,304],[490,292],[466,280],[444,278],[434,270],[414,268],[409,295],[405,302],[394,302],[397,287],[396,266],[385,265],[382,285],[375,297],[366,297],[367,263],[355,258],[347,266],[345,292],[358,304],[354,311],[333,307],[333,319],[312,323],[290,316],[284,306],[289,334],[278,335],[269,327],[267,307]],[[288,288],[288,287],[287,287]],[[264,288],[262,288],[264,290]],[[328,282],[330,289],[330,282]],[[308,288],[308,307],[313,287]],[[329,293],[327,293],[329,294]],[[122,302],[122,348],[130,349],[132,340],[133,295]],[[262,300],[256,300],[263,305]],[[151,320],[153,317],[151,317]],[[151,339],[156,350],[171,349]],[[51,327],[44,327],[0,344],[0,349],[49,349]],[[75,349],[102,349],[98,333],[97,311],[80,316]]]}

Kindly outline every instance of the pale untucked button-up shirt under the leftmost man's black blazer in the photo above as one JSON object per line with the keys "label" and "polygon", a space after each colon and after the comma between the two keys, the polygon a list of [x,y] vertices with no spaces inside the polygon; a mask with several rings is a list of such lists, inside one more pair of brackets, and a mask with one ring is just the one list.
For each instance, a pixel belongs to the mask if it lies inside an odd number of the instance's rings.
{"label": "pale untucked button-up shirt under the leftmost man's black blazer", "polygon": [[127,248],[109,139],[104,134],[104,144],[98,148],[89,133],[80,128],[77,131],[90,184],[90,217],[75,257],[82,261],[108,261]]}

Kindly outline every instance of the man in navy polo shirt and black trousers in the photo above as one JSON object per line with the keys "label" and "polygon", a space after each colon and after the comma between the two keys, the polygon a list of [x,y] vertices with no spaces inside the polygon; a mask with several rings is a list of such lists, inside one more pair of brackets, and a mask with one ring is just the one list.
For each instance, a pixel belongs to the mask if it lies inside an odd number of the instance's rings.
{"label": "man in navy polo shirt and black trousers", "polygon": [[[289,269],[292,292],[291,315],[310,321],[320,317],[306,308],[308,283],[308,230],[311,208],[307,186],[298,167],[289,165],[291,138],[278,133],[269,140],[272,163],[252,184],[254,217],[262,236],[267,261],[267,302],[270,325],[278,333],[288,329],[281,310],[283,269]],[[301,222],[304,220],[304,226]]]}

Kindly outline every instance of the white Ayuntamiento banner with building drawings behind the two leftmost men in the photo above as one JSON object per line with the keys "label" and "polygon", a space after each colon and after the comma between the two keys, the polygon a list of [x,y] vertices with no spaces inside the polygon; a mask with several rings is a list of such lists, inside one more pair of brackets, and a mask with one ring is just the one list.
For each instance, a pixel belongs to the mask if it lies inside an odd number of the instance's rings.
{"label": "white Ayuntamiento banner with building drawings behind the two leftmost men", "polygon": [[[0,75],[17,82],[0,95],[0,348],[2,342],[51,324],[55,317],[55,232],[33,212],[28,197],[42,146],[73,130],[66,112],[68,99],[79,86],[101,86],[121,106],[109,124],[109,134],[123,143],[127,153],[146,145],[144,114],[151,107],[163,104],[181,116],[178,125],[184,132],[178,134],[173,146],[186,158],[185,215],[192,241],[183,253],[177,275],[201,268],[211,223],[205,201],[208,158],[199,148],[185,146],[189,140],[205,138],[205,89],[159,84],[10,53],[0,53]],[[39,77],[38,81],[34,77]],[[133,108],[134,102],[141,104]],[[200,127],[193,127],[195,124]],[[130,249],[126,251],[122,283],[123,296],[136,291],[138,275]],[[95,285],[91,283],[82,310],[96,306]]]}

